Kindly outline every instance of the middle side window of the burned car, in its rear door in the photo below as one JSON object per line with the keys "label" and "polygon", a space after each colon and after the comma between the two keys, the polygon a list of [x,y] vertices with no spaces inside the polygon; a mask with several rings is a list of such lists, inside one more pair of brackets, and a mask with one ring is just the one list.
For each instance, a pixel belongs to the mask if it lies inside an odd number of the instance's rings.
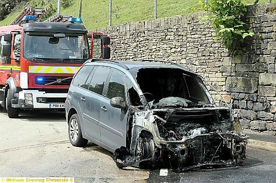
{"label": "middle side window of the burned car, in its rear door", "polygon": [[96,67],[88,89],[95,93],[102,94],[104,83],[109,71],[110,68],[107,67]]}

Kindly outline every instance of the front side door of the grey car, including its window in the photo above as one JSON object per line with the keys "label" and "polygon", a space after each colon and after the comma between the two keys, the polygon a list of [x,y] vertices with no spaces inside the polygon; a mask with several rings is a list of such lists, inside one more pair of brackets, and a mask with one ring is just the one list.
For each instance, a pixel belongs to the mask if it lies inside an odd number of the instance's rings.
{"label": "front side door of the grey car, including its window", "polygon": [[101,142],[116,149],[126,145],[127,111],[112,107],[110,99],[115,96],[125,99],[125,74],[114,68],[105,87],[106,94],[100,104]]}

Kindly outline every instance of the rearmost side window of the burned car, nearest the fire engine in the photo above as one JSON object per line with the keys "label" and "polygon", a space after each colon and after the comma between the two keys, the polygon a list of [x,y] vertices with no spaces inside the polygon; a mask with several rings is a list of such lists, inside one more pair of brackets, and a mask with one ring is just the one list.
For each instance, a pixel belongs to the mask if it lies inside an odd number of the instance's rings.
{"label": "rearmost side window of the burned car, nearest the fire engine", "polygon": [[[85,87],[85,81],[87,80],[88,75],[90,74],[93,67],[91,66],[83,66],[80,71],[75,75],[73,80],[73,85]],[[86,88],[87,89],[87,88]]]}

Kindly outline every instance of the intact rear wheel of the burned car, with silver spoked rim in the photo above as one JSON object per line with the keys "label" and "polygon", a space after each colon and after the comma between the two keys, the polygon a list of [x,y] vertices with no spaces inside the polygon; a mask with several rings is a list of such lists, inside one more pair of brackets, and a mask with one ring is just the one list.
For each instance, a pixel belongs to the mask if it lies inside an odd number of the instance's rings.
{"label": "intact rear wheel of the burned car, with silver spoked rim", "polygon": [[68,123],[68,135],[70,142],[73,146],[83,147],[87,144],[88,140],[82,137],[79,116],[74,113]]}

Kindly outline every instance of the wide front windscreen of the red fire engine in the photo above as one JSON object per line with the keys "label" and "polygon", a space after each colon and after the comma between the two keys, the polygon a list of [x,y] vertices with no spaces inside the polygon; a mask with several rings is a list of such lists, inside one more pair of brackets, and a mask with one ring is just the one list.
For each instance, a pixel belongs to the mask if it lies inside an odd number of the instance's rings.
{"label": "wide front windscreen of the red fire engine", "polygon": [[[60,34],[60,33],[59,33]],[[23,57],[34,62],[85,61],[89,58],[86,34],[25,32],[23,38]]]}

